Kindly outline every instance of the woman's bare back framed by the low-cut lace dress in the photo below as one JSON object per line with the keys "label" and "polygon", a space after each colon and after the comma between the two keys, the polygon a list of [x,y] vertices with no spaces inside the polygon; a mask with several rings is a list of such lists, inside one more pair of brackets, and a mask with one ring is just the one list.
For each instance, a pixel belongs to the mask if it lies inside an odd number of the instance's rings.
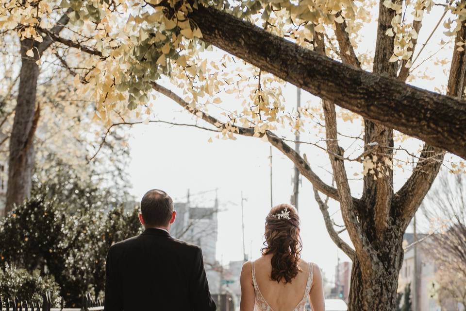
{"label": "woman's bare back framed by the low-cut lace dress", "polygon": [[[266,304],[273,311],[294,311],[303,299],[307,301],[310,282],[312,282],[311,265],[301,260],[299,262],[300,271],[291,282],[285,283],[284,279],[277,282],[270,279],[271,259],[272,255],[266,255],[251,262],[252,277],[255,277],[255,285],[260,291],[260,293],[256,293],[256,296],[257,294],[262,295]],[[260,300],[260,297],[256,298]],[[267,309],[262,308],[262,310]]]}

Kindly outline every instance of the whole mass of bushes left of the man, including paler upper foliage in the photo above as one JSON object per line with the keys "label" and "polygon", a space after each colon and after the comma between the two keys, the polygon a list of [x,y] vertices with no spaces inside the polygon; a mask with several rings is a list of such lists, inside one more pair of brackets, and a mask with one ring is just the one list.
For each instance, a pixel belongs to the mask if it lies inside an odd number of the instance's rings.
{"label": "whole mass of bushes left of the man, including paler upper foliage", "polygon": [[[109,247],[142,231],[138,207],[121,189],[83,183],[65,163],[50,181],[35,180],[30,200],[0,222],[0,293],[80,306],[103,296]],[[60,285],[57,285],[60,284]]]}

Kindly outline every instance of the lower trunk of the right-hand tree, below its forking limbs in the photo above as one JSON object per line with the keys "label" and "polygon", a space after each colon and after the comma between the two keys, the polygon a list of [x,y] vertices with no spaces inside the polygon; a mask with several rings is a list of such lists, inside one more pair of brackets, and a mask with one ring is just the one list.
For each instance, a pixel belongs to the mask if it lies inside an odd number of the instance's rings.
{"label": "lower trunk of the right-hand tree, below its forking limbs", "polygon": [[398,277],[394,276],[398,276],[403,261],[402,233],[393,235],[381,247],[381,262],[374,264],[367,277],[363,276],[359,259],[353,259],[348,311],[396,310]]}

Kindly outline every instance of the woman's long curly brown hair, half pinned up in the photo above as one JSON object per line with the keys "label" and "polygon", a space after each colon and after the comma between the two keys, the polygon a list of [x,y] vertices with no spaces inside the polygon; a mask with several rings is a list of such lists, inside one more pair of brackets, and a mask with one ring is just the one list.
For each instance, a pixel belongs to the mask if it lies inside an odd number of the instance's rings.
{"label": "woman's long curly brown hair, half pinned up", "polygon": [[[289,218],[273,217],[289,211]],[[295,207],[288,204],[280,204],[273,207],[266,217],[265,242],[262,249],[263,255],[272,254],[271,280],[285,283],[291,280],[301,271],[299,261],[301,259],[302,241],[300,237],[300,217]]]}

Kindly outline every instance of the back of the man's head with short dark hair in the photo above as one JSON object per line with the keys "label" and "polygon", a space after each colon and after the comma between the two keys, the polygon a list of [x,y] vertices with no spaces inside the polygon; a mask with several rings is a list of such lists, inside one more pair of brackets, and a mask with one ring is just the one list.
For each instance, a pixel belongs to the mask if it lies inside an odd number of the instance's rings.
{"label": "back of the man's head with short dark hair", "polygon": [[142,197],[141,213],[146,227],[166,226],[173,214],[173,200],[163,190],[149,190]]}

